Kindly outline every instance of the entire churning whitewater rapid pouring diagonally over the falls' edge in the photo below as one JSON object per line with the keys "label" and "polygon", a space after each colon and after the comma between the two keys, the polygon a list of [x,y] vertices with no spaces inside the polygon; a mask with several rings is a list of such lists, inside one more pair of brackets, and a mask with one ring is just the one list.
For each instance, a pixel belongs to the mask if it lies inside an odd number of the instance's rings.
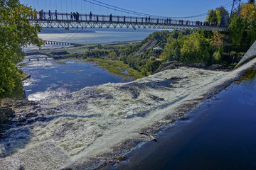
{"label": "entire churning whitewater rapid pouring diagonally over the falls' edge", "polygon": [[65,169],[120,157],[151,140],[139,132],[157,135],[255,63],[232,72],[179,67],[130,83],[48,97],[40,101],[43,119],[6,130],[0,169]]}

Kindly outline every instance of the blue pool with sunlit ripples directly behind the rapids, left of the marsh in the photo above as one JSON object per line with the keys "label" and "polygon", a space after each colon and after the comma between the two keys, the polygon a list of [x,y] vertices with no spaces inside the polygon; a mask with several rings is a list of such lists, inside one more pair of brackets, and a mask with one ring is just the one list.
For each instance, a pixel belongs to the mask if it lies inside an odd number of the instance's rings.
{"label": "blue pool with sunlit ripples directly behind the rapids, left of the marsh", "polygon": [[22,70],[31,74],[31,78],[24,81],[23,89],[26,91],[26,96],[43,91],[72,92],[86,86],[127,82],[84,60],[45,60],[43,58],[39,61],[26,60],[26,63]]}

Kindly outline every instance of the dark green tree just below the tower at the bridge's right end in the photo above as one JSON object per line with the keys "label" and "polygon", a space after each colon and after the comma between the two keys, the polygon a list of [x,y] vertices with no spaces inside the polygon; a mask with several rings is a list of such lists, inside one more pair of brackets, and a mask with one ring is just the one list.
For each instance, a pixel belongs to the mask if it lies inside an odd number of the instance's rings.
{"label": "dark green tree just below the tower at the bridge's right end", "polygon": [[245,28],[247,26],[246,20],[241,16],[235,16],[228,27],[230,38],[234,45],[239,45],[242,40]]}

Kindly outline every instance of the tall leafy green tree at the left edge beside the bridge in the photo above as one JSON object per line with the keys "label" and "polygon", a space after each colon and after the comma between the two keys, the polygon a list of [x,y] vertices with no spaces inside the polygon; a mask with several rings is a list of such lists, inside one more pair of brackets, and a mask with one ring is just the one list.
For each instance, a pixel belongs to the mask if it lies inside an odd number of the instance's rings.
{"label": "tall leafy green tree at the left edge beside the bridge", "polygon": [[38,25],[31,26],[27,18],[36,18],[36,11],[19,4],[18,0],[0,1],[0,98],[13,96],[21,87],[21,70],[16,67],[24,53],[21,47],[43,45],[38,38]]}

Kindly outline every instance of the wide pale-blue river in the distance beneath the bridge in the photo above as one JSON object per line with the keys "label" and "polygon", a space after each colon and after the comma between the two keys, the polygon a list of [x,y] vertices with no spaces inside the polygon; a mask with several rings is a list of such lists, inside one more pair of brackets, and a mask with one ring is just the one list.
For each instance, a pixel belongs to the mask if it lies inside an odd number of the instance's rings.
{"label": "wide pale-blue river in the distance beneath the bridge", "polygon": [[[133,41],[144,40],[149,34],[156,30],[146,29],[127,29],[127,28],[86,28],[86,29],[44,29],[38,33],[38,37],[43,40],[59,41],[59,42],[72,42],[78,44],[100,44],[107,42],[117,41]],[[44,48],[60,48],[68,47],[66,45],[46,45]],[[24,51],[38,49],[38,47],[28,46],[23,48]]]}

